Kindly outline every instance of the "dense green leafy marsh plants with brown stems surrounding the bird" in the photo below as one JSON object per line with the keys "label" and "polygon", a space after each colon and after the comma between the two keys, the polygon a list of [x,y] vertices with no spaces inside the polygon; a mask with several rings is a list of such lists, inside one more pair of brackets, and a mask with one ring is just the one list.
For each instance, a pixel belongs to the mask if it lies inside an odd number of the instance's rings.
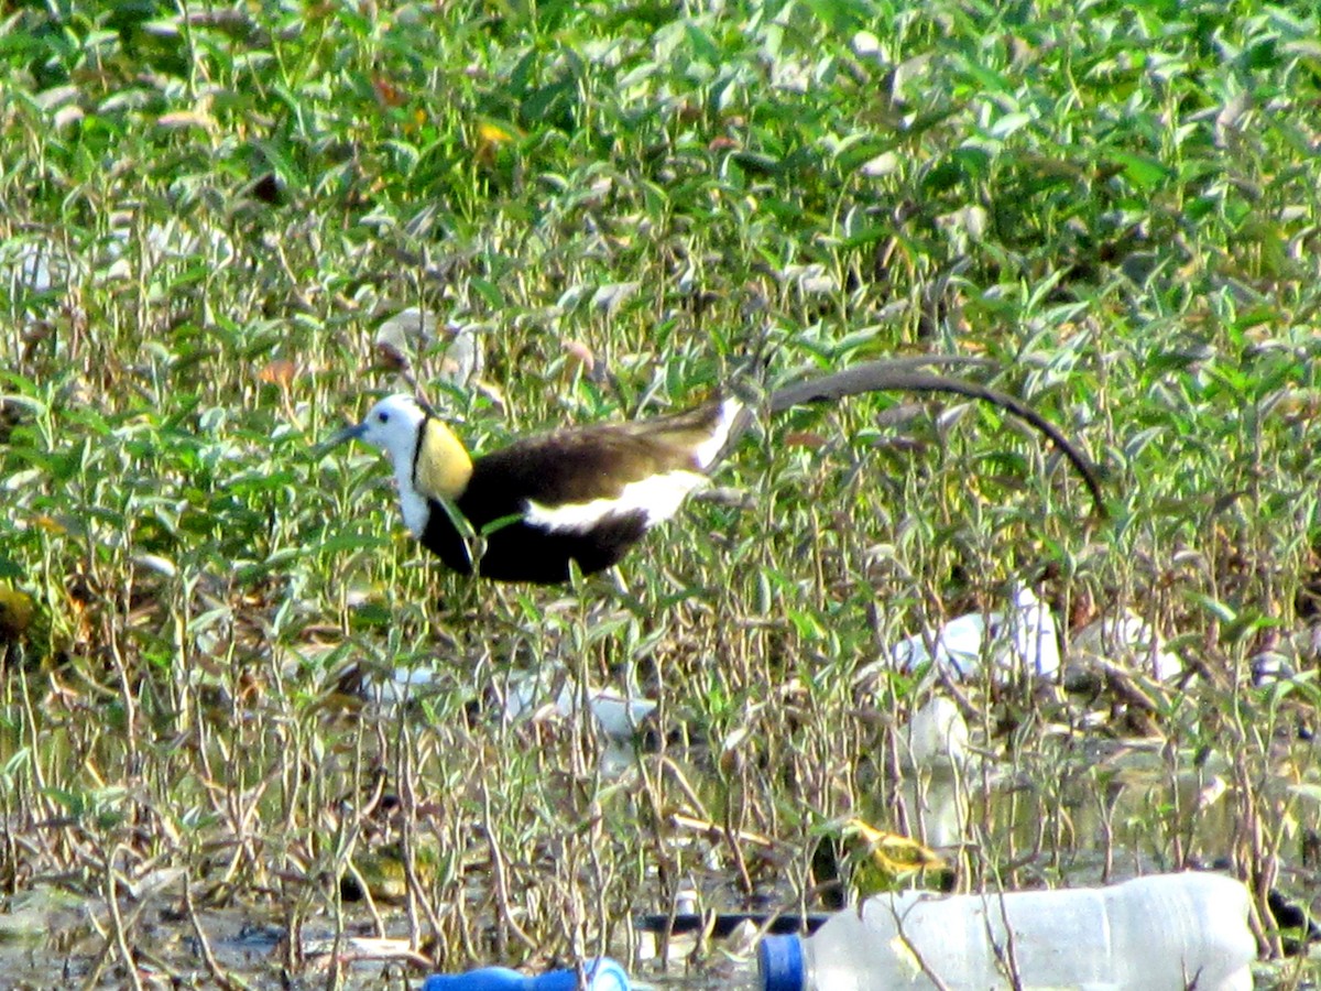
{"label": "dense green leafy marsh plants with brown stems surrounding the bird", "polygon": [[[1012,581],[1070,630],[1135,612],[1197,677],[964,686],[1022,788],[975,776],[959,883],[1225,858],[1318,889],[1314,4],[711,7],[3,15],[0,906],[89,905],[33,986],[66,957],[336,979],[297,939],[153,936],[234,912],[460,969],[624,955],[694,879],[812,908],[831,823],[913,827],[894,725],[929,690],[856,671]],[[312,449],[406,387],[374,348],[406,307],[477,333],[480,386],[440,385],[444,341],[412,359],[478,451],[679,408],[758,345],[775,381],[989,355],[1112,519],[1012,422],[863,399],[768,424],[719,478],[748,499],[690,505],[620,583],[474,585],[404,539],[378,459]],[[1303,674],[1255,684],[1263,651]],[[556,665],[659,702],[622,777],[588,720],[499,717]],[[396,669],[429,675],[380,704]],[[1169,788],[1116,811],[1089,747],[1133,732]],[[1211,769],[1209,835],[1174,785]],[[341,899],[383,862],[403,908]],[[172,869],[186,897],[135,900]]]}

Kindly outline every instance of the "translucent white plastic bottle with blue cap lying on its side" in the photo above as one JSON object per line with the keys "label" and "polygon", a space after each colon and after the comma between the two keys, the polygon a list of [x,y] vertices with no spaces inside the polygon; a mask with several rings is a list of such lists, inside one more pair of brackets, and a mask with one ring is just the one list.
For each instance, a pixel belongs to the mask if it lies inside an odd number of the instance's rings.
{"label": "translucent white plastic bottle with blue cap lying on its side", "polygon": [[984,991],[1012,986],[1011,954],[1022,987],[1251,991],[1247,913],[1239,881],[1199,872],[1003,896],[904,892],[807,938],[769,936],[757,961],[764,991],[930,987],[922,963],[948,988]]}

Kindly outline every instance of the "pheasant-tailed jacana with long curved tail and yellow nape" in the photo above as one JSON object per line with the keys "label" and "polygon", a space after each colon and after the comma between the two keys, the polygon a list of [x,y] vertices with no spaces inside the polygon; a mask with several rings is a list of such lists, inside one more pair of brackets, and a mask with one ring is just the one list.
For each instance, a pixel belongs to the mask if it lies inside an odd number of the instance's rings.
{"label": "pheasant-tailed jacana with long curved tail and yellow nape", "polygon": [[[1103,510],[1095,469],[1054,424],[997,390],[923,366],[978,363],[951,357],[857,365],[786,386],[771,412],[859,392],[951,392],[1020,416],[1078,468]],[[454,571],[502,581],[553,584],[610,567],[647,530],[672,517],[752,419],[731,396],[629,423],[573,427],[473,457],[453,431],[407,395],[378,402],[324,448],[362,440],[390,456],[404,523]],[[473,540],[473,536],[481,538]],[[480,548],[474,562],[473,548]]]}

